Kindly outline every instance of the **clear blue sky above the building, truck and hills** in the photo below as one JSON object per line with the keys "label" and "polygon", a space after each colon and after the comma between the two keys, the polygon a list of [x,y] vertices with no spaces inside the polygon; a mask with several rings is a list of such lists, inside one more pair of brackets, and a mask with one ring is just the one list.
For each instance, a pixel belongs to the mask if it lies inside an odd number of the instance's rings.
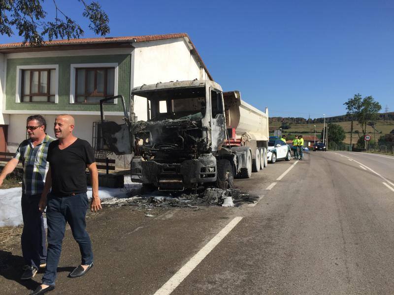
{"label": "clear blue sky above the building, truck and hills", "polygon": [[[94,36],[80,2],[57,2]],[[394,111],[392,0],[99,2],[109,36],[187,32],[214,80],[271,117],[343,115],[355,93]]]}

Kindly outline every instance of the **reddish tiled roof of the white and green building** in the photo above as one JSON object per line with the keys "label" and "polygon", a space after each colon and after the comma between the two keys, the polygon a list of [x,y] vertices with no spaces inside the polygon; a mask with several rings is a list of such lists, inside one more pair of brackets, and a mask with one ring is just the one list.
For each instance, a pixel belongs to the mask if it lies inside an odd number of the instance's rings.
{"label": "reddish tiled roof of the white and green building", "polygon": [[120,46],[125,47],[125,45],[129,45],[131,47],[131,44],[134,42],[147,42],[147,41],[157,41],[157,40],[176,39],[176,38],[184,38],[186,40],[186,42],[190,45],[191,54],[197,59],[197,62],[200,64],[200,66],[205,69],[205,72],[208,75],[209,79],[213,80],[204,62],[202,61],[200,55],[198,54],[196,47],[194,46],[192,40],[190,40],[189,35],[187,33],[52,40],[52,41],[45,41],[42,46],[37,46],[37,47],[31,47],[29,46],[29,43],[23,45],[22,42],[7,43],[7,44],[0,44],[0,53],[116,48]]}

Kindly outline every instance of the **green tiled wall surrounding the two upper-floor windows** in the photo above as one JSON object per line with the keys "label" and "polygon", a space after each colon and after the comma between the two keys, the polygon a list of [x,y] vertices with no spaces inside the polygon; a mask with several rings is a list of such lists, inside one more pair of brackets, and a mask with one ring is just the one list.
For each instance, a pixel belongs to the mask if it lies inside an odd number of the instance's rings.
{"label": "green tiled wall surrounding the two upper-floor windows", "polygon": [[[118,63],[118,94],[126,99],[130,97],[130,55],[47,57],[27,59],[7,59],[5,109],[32,111],[100,111],[99,104],[70,104],[70,64],[71,63]],[[18,65],[59,64],[59,103],[15,102],[16,67]],[[120,100],[116,105],[106,105],[105,111],[122,112]]]}

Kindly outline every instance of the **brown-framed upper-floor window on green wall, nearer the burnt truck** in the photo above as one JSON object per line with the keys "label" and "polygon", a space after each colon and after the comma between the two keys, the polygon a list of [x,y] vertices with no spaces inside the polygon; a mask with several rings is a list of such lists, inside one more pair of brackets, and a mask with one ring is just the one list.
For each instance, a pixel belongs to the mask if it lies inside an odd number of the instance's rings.
{"label": "brown-framed upper-floor window on green wall, nearer the burnt truck", "polygon": [[[114,96],[115,68],[75,68],[75,102],[98,103]],[[114,101],[108,101],[114,103]]]}

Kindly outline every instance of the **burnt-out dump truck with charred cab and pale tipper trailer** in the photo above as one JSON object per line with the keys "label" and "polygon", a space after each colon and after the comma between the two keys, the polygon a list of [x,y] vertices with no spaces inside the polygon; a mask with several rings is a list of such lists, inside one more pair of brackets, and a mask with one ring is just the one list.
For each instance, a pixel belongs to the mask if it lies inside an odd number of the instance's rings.
{"label": "burnt-out dump truck with charred cab and pale tipper trailer", "polygon": [[[134,102],[145,98],[147,120],[136,120]],[[124,124],[106,121],[103,106],[120,98]],[[145,101],[144,99],[144,101]],[[267,166],[268,110],[223,92],[213,81],[142,85],[100,101],[100,131],[115,154],[132,154],[131,180],[159,190],[182,191],[233,185]]]}

